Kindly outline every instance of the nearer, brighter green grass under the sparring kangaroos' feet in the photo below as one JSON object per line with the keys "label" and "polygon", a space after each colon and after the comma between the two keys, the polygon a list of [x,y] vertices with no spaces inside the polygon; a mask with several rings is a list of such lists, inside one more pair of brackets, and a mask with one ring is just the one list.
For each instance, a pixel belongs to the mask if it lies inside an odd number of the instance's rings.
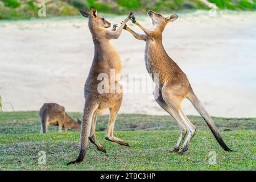
{"label": "nearer, brighter green grass under the sparring kangaroos' feet", "polygon": [[[0,135],[0,169],[32,170],[255,170],[255,131],[222,133],[228,145],[238,152],[225,152],[209,131],[199,131],[184,155],[170,154],[179,131],[117,131],[130,147],[97,139],[107,154],[89,143],[84,162],[66,166],[79,152],[79,133]],[[46,152],[46,165],[38,164],[38,152]],[[209,152],[216,152],[216,164],[210,165]]]}

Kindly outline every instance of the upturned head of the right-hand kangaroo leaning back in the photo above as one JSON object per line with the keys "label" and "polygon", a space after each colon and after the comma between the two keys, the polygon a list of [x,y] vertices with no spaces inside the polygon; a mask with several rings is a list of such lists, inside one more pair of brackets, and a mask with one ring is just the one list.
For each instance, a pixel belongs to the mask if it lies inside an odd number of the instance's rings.
{"label": "upturned head of the right-hand kangaroo leaning back", "polygon": [[174,22],[178,18],[178,15],[176,14],[164,17],[163,15],[155,13],[155,11],[152,10],[149,10],[147,14],[152,19],[152,24],[157,28],[161,28],[162,30],[164,27],[166,27],[167,23]]}

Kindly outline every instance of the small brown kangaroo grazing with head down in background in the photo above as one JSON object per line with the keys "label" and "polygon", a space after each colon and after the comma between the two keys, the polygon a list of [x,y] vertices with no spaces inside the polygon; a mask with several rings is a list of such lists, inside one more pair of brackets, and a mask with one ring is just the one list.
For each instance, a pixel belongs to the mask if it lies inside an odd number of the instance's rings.
{"label": "small brown kangaroo grazing with head down in background", "polygon": [[75,122],[65,112],[65,108],[56,103],[44,103],[39,110],[39,117],[41,118],[41,133],[47,133],[48,125],[59,126],[59,132],[68,131],[68,129],[75,129],[80,131],[81,121],[77,119]]}

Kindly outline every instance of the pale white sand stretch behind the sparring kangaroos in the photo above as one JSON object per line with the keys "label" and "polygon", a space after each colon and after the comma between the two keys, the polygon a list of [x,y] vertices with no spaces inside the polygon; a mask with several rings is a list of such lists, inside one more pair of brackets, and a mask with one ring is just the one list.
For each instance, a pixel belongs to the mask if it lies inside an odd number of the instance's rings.
{"label": "pale white sand stretch behind the sparring kangaroos", "polygon": [[[256,13],[179,14],[163,44],[211,115],[256,116]],[[125,16],[105,18],[118,23]],[[150,27],[147,16],[137,16]],[[130,26],[133,26],[130,23]],[[134,30],[139,30],[134,27]],[[145,43],[128,32],[113,40],[123,73],[146,73]],[[86,19],[0,22],[0,94],[3,110],[38,110],[57,102],[82,111],[83,87],[93,59]],[[150,80],[148,80],[150,82]],[[150,90],[151,92],[151,90]],[[166,114],[148,94],[125,94],[119,113]],[[185,101],[185,113],[197,114]]]}

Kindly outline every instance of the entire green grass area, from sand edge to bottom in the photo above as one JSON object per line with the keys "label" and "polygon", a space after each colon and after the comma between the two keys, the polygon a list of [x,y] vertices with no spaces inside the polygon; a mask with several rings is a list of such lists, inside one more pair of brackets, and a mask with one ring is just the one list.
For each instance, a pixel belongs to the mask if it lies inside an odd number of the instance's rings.
{"label": "entire green grass area, from sand edge to bottom", "polygon": [[[81,118],[81,113],[69,113]],[[0,169],[2,170],[255,170],[255,118],[213,118],[221,135],[237,152],[225,152],[200,117],[190,116],[197,132],[184,155],[170,154],[179,130],[168,116],[120,114],[115,125],[115,137],[127,140],[130,147],[104,139],[108,115],[97,120],[96,138],[107,154],[89,143],[84,162],[66,166],[79,152],[79,133],[40,134],[38,113],[0,113]],[[38,164],[38,152],[46,152],[46,164]],[[210,151],[216,152],[217,163],[210,165]]]}

